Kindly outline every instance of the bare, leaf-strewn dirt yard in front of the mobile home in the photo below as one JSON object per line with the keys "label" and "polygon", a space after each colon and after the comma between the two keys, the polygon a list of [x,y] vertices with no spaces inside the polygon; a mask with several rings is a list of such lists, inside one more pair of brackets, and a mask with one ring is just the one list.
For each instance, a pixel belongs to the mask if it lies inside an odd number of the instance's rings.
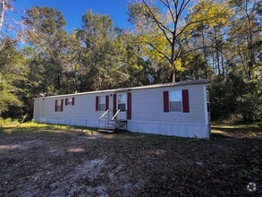
{"label": "bare, leaf-strewn dirt yard in front of the mobile home", "polygon": [[0,196],[261,195],[261,130],[216,131],[211,140],[2,131]]}

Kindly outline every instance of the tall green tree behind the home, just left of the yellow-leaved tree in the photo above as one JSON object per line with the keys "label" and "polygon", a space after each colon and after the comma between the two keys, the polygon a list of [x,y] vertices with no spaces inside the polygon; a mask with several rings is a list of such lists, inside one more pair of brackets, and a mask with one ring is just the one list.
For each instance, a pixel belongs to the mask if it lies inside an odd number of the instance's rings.
{"label": "tall green tree behind the home, just left of the yellow-leaved tree", "polygon": [[113,21],[108,15],[91,11],[83,15],[82,21],[79,35],[84,46],[87,87],[91,85],[92,90],[118,87],[128,75],[121,70],[123,40],[114,29]]}

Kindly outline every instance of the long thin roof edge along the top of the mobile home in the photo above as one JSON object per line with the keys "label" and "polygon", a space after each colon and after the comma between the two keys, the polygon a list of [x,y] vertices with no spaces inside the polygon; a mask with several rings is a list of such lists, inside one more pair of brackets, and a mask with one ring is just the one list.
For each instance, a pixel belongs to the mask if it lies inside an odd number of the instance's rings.
{"label": "long thin roof edge along the top of the mobile home", "polygon": [[97,93],[108,93],[108,92],[114,93],[114,92],[123,92],[123,91],[131,91],[131,90],[145,90],[145,89],[156,89],[156,88],[165,88],[165,87],[172,87],[172,86],[199,85],[199,84],[210,84],[210,80],[207,79],[190,80],[190,81],[179,81],[174,83],[171,82],[171,83],[161,83],[161,84],[154,84],[154,85],[147,85],[147,86],[137,86],[131,88],[120,88],[120,89],[113,89],[113,90],[86,91],[86,92],[80,92],[74,94],[55,95],[55,96],[36,98],[36,99],[52,99],[52,98],[72,97],[72,96],[97,94]]}

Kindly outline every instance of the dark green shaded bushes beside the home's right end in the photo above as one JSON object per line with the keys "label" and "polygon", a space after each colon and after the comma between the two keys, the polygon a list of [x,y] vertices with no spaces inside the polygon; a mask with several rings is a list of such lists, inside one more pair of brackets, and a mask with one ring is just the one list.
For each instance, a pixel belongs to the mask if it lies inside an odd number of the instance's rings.
{"label": "dark green shaded bushes beside the home's right end", "polygon": [[217,77],[211,85],[210,102],[213,120],[235,116],[236,120],[262,120],[261,81],[243,81],[241,76]]}

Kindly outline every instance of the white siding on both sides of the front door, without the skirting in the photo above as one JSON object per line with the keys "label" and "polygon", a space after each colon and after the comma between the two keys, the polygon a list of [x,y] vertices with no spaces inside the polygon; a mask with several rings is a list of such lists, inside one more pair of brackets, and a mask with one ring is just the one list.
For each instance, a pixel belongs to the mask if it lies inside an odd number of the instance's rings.
{"label": "white siding on both sides of the front door, without the skirting", "polygon": [[[132,90],[132,120],[138,121],[160,121],[178,123],[202,123],[205,122],[205,108],[203,87],[205,85],[191,85],[157,88],[148,90]],[[164,113],[163,91],[189,90],[190,113]],[[113,92],[114,94],[114,92]],[[109,97],[109,108],[113,108],[113,94]],[[103,111],[96,111],[96,96],[106,97],[108,93],[75,95],[78,100],[74,107],[63,107],[62,113],[55,113],[55,99],[44,99],[45,117],[80,117],[80,118],[99,118]],[[206,96],[206,94],[205,94]],[[42,115],[42,99],[35,100],[36,115]],[[207,105],[207,103],[206,103]]]}

